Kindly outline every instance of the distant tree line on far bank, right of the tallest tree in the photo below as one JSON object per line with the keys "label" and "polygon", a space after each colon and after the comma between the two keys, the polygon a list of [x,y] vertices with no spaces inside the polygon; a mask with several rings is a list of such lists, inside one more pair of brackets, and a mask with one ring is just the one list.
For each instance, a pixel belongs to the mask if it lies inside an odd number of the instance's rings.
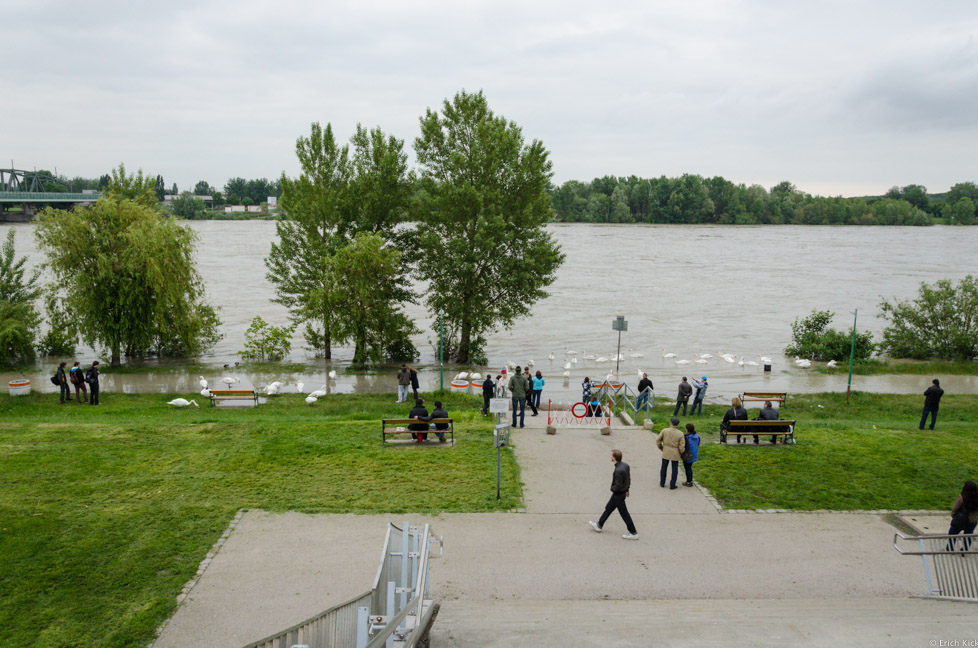
{"label": "distant tree line on far bank, right of the tallest tree", "polygon": [[978,185],[960,182],[946,194],[926,187],[893,187],[883,196],[813,196],[790,182],[770,190],[703,178],[569,180],[550,188],[556,220],[567,223],[674,223],[722,225],[930,225],[933,219],[973,225]]}

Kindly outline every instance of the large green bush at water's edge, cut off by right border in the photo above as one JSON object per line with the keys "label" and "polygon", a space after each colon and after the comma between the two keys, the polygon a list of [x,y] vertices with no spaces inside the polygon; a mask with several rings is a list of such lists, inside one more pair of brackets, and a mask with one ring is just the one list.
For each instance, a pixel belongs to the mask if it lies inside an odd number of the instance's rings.
{"label": "large green bush at water's edge, cut off by right border", "polygon": [[949,279],[921,283],[916,299],[884,299],[880,311],[891,322],[880,347],[895,358],[978,359],[978,279],[972,275],[957,287]]}

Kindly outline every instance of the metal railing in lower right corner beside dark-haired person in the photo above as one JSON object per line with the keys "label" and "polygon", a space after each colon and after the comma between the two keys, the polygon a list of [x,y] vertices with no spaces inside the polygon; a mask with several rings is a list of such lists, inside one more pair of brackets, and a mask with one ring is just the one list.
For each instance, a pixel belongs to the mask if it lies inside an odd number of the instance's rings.
{"label": "metal railing in lower right corner beside dark-haired person", "polygon": [[[909,543],[913,549],[905,550],[900,543]],[[923,559],[928,596],[978,602],[978,535],[896,533],[893,548],[904,556]]]}

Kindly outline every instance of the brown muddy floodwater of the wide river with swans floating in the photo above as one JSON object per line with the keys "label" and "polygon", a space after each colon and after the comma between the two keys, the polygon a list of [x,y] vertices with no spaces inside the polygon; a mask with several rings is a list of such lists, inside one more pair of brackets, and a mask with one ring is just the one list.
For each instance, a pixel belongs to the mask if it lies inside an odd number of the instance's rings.
{"label": "brown muddy floodwater of the wide river with swans floating", "polygon": [[[289,360],[306,363],[303,374],[236,369],[244,332],[255,315],[273,324],[287,321],[285,309],[270,301],[274,290],[263,263],[275,225],[198,221],[190,226],[200,235],[198,267],[209,301],[220,307],[224,338],[199,366],[185,370],[161,366],[155,372],[112,375],[106,366],[106,394],[196,391],[198,375],[212,385],[222,376],[238,376],[242,387],[279,380],[289,383],[283,393],[295,391],[293,383],[299,380],[305,392],[324,384],[330,392],[396,392],[393,370],[346,374],[352,347],[334,349],[334,359],[326,363],[304,348],[300,333]],[[3,224],[0,236],[11,227],[17,232],[18,256],[37,264],[41,259],[32,226]],[[844,329],[858,309],[859,330],[878,334],[884,325],[878,318],[882,298],[913,297],[922,281],[957,280],[978,265],[978,228],[557,224],[550,231],[567,255],[550,296],[512,330],[491,334],[487,348],[494,373],[507,362],[533,360],[534,370],[547,380],[544,401],[573,399],[584,376],[603,379],[614,371],[618,338],[611,325],[618,315],[628,321],[621,339],[621,377],[634,386],[638,372],[647,371],[660,397],[672,398],[683,375],[708,376],[711,402],[745,389],[845,391],[845,374],[800,369],[784,357],[796,317],[813,308],[830,309],[836,313],[833,326]],[[415,366],[422,390],[437,388],[433,318],[421,305],[408,305],[406,312],[423,331],[414,339],[421,352]],[[676,357],[664,358],[666,353]],[[728,363],[720,353],[733,354],[736,361]],[[714,357],[697,363],[704,354]],[[595,359],[585,359],[592,355]],[[762,371],[762,356],[772,359],[772,372]],[[91,349],[78,350],[77,359],[85,364],[96,357]],[[574,358],[564,378],[565,362]],[[758,364],[740,366],[741,359]],[[682,360],[688,364],[677,364]],[[846,360],[839,358],[840,364]],[[47,380],[55,361],[44,359],[28,376],[35,389],[55,390]],[[330,370],[337,371],[335,380],[327,379]],[[487,372],[486,367],[446,367],[446,387],[460,370]],[[4,381],[14,377],[0,374]],[[976,376],[941,379],[951,393],[978,393]],[[917,393],[929,383],[927,376],[853,377],[853,388],[863,391]]]}

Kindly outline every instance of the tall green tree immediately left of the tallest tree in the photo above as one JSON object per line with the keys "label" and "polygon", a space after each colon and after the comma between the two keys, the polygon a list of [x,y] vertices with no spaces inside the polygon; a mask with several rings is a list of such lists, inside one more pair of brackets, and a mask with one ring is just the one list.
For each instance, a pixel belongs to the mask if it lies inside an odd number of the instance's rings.
{"label": "tall green tree immediately left of the tallest tree", "polygon": [[[313,349],[328,359],[333,345],[353,339],[358,361],[364,362],[369,354],[364,355],[363,327],[384,329],[379,334],[383,338],[389,322],[354,321],[346,307],[348,286],[343,285],[349,269],[337,265],[352,257],[337,255],[360,233],[396,247],[395,226],[404,217],[411,185],[402,140],[358,125],[351,141],[352,157],[349,146],[337,144],[332,126],[318,123],[312,124],[309,137],[296,140],[302,173],[295,179],[282,175],[279,205],[287,220],[276,223],[278,241],[272,243],[265,266],[275,286],[274,301],[289,309],[294,322],[306,324],[306,342]],[[389,273],[375,277],[378,285],[404,281],[403,264],[378,267]],[[385,294],[394,300],[388,310],[398,300],[411,299],[407,291]]]}

